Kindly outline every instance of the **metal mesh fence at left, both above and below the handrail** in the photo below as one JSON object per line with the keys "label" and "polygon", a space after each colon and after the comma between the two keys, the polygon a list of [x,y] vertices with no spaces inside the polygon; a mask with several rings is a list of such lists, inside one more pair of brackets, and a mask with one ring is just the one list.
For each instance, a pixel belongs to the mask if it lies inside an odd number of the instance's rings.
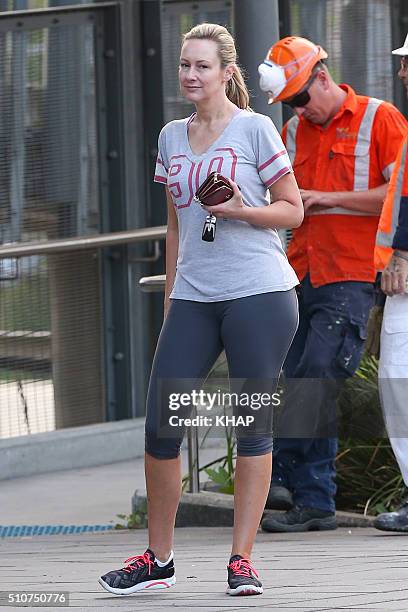
{"label": "metal mesh fence at left, both above and below the handrail", "polygon": [[[0,244],[99,233],[94,36],[0,32]],[[0,437],[104,420],[100,278],[98,252],[0,260]]]}

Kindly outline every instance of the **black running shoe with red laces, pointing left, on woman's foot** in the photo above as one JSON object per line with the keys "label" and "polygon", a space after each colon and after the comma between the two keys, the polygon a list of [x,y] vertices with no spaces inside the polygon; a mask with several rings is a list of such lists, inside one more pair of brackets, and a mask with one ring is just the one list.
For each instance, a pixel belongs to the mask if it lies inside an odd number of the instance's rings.
{"label": "black running shoe with red laces, pointing left, on woman's foot", "polygon": [[154,553],[147,549],[144,555],[126,559],[125,567],[113,570],[99,578],[99,584],[115,595],[129,595],[144,589],[167,589],[176,584],[173,557],[164,567],[157,565]]}

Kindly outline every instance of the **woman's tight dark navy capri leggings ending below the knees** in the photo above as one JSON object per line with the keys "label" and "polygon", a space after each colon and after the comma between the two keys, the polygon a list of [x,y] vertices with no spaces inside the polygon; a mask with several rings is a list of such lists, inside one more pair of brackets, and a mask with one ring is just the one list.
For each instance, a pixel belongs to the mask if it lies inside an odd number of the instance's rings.
{"label": "woman's tight dark navy capri leggings ending below the knees", "polygon": [[[159,433],[160,423],[168,422],[174,414],[168,402],[161,400],[163,381],[182,379],[191,389],[199,388],[196,383],[206,378],[223,349],[230,379],[276,381],[297,325],[295,289],[222,302],[171,300],[150,377],[146,452],[157,459],[174,459],[180,453],[181,428],[180,435],[166,437]],[[272,433],[267,437],[237,434],[238,455],[264,455],[272,451],[272,446]]]}

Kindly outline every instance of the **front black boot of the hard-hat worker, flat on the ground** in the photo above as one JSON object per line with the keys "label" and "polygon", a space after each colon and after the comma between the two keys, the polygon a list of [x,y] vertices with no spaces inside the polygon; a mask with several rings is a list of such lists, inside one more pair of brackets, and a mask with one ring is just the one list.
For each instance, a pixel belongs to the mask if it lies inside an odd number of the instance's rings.
{"label": "front black boot of the hard-hat worker, flat on the ground", "polygon": [[292,531],[326,531],[337,529],[334,512],[325,512],[318,508],[295,506],[282,514],[270,514],[261,524],[263,531],[273,533]]}

